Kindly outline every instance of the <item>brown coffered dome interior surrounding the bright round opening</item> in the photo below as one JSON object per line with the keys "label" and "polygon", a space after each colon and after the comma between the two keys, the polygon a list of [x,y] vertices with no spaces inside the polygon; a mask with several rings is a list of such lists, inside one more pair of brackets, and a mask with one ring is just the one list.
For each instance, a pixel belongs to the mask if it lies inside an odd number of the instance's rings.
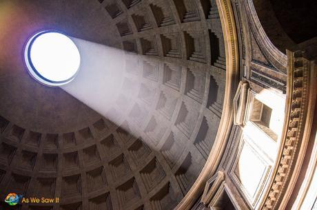
{"label": "brown coffered dome interior surrounding the bright round opening", "polygon": [[[216,3],[1,4],[10,20],[0,37],[2,195],[61,200],[19,206],[26,209],[175,207],[203,168],[221,118],[225,48]],[[105,108],[113,118],[25,70],[23,43],[50,29],[125,51],[119,94]]]}

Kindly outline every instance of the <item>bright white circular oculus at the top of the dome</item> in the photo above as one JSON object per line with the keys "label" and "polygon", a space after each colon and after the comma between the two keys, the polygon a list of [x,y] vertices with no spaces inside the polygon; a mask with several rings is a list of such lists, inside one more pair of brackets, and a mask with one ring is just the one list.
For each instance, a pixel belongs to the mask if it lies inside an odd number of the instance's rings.
{"label": "bright white circular oculus at the top of the dome", "polygon": [[40,83],[60,86],[72,81],[79,70],[81,56],[75,43],[59,32],[34,34],[25,47],[28,72]]}

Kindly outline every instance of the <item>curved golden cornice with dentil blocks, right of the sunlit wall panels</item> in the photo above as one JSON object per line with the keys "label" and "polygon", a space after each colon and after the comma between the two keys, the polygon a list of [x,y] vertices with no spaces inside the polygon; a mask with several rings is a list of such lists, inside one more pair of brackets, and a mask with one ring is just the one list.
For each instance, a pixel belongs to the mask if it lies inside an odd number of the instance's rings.
{"label": "curved golden cornice with dentil blocks, right of the sunlit wall panels", "polygon": [[272,179],[260,209],[282,210],[305,157],[316,103],[316,65],[302,52],[287,51],[285,121]]}

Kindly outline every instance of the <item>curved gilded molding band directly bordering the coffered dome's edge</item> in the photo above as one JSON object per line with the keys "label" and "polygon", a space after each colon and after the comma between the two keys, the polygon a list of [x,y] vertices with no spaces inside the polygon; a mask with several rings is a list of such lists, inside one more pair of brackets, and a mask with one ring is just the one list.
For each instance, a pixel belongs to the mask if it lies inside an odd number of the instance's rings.
{"label": "curved gilded molding band directly bordering the coffered dome's edge", "polygon": [[225,145],[229,138],[230,129],[233,124],[233,99],[238,86],[238,36],[236,34],[236,23],[232,4],[229,0],[216,0],[221,25],[223,28],[223,38],[225,41],[226,55],[226,82],[225,98],[223,103],[223,113],[219,124],[214,146],[210,151],[209,157],[201,174],[194,182],[194,185],[188,191],[186,196],[181,200],[175,209],[190,209],[196,198],[203,191],[206,181],[215,173],[216,168],[221,162]]}

